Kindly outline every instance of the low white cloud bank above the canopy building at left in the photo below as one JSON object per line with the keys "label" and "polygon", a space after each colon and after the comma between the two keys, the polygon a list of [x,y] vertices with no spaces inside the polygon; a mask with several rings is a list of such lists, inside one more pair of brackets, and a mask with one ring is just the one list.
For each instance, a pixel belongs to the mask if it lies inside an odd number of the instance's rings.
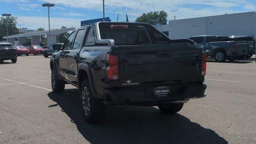
{"label": "low white cloud bank above the canopy building at left", "polygon": [[[26,27],[28,29],[37,30],[37,28],[48,29],[48,17],[42,16],[17,16],[18,23],[22,25],[22,27]],[[61,28],[61,26],[70,27],[80,27],[81,19],[76,18],[50,18],[50,28],[56,29]]]}

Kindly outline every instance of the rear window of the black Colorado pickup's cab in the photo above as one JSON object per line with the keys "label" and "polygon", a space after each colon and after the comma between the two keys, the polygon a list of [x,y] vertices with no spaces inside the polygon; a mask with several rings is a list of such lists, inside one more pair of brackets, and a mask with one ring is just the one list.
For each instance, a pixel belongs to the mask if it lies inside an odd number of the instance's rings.
{"label": "rear window of the black Colorado pickup's cab", "polygon": [[[114,26],[111,26],[114,25]],[[148,24],[100,23],[100,37],[115,45],[168,44],[170,39]],[[150,43],[151,41],[151,43]]]}

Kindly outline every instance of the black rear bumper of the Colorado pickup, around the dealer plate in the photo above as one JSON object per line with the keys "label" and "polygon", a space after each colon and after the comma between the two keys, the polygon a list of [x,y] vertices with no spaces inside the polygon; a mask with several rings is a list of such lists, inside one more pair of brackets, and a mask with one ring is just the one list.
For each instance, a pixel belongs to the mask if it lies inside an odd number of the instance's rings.
{"label": "black rear bumper of the Colorado pickup, around the dealer plate", "polygon": [[193,98],[203,98],[206,84],[170,85],[170,96],[156,97],[154,87],[133,87],[119,90],[104,90],[104,102],[107,104],[132,104],[156,106],[159,102],[185,103]]}

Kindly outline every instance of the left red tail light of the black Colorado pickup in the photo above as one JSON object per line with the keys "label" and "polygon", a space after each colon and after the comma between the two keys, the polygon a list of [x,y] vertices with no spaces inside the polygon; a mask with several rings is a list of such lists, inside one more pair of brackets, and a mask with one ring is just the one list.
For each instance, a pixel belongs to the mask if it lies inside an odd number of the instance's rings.
{"label": "left red tail light of the black Colorado pickup", "polygon": [[106,68],[106,76],[109,80],[119,79],[119,60],[118,56],[114,54],[107,54],[106,60],[109,66]]}

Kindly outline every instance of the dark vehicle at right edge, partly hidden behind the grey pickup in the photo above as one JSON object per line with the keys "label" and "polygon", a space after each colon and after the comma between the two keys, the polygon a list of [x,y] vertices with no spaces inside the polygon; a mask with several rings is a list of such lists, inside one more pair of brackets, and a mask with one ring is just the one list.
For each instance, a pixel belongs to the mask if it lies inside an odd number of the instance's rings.
{"label": "dark vehicle at right edge, partly hidden behind the grey pickup", "polygon": [[246,41],[246,45],[250,49],[250,54],[246,55],[245,58],[252,57],[253,54],[255,54],[256,49],[256,42],[255,42],[255,36],[230,36],[231,40],[234,41]]}

